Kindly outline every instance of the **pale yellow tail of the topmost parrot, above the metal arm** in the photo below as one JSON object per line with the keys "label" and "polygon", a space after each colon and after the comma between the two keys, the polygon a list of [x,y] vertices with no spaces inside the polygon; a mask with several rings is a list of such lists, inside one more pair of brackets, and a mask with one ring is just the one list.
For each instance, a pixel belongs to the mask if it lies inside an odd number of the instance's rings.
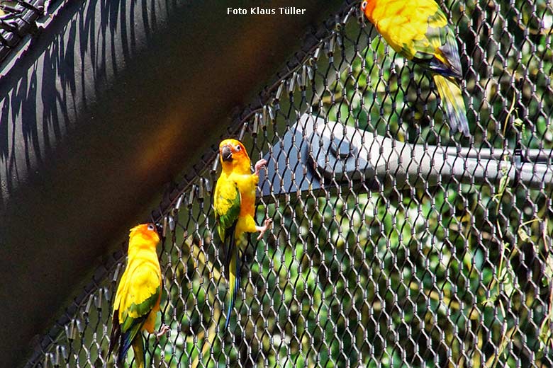
{"label": "pale yellow tail of the topmost parrot, above the metal arm", "polygon": [[467,110],[464,107],[461,88],[452,78],[441,76],[440,74],[433,74],[433,77],[437,91],[442,99],[445,113],[449,119],[449,127],[452,133],[459,130],[465,137],[470,137]]}

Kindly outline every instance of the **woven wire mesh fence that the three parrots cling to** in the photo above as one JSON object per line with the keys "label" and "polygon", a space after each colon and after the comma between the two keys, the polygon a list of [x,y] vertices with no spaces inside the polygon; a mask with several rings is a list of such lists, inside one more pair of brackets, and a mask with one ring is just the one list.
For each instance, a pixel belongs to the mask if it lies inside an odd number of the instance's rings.
{"label": "woven wire mesh fence that the three parrots cling to", "polygon": [[[153,212],[171,328],[149,336],[153,367],[553,367],[552,4],[440,5],[472,137],[449,134],[428,75],[348,1],[229,128],[269,160],[256,217],[274,226],[242,249],[227,332],[218,140]],[[112,366],[124,261],[28,367]]]}

